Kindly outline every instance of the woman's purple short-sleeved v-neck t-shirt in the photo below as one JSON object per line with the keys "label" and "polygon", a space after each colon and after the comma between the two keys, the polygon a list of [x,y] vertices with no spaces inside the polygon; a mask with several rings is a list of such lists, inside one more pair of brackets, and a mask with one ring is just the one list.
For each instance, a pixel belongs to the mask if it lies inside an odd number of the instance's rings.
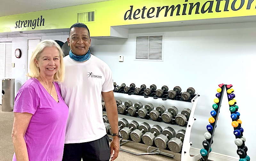
{"label": "woman's purple short-sleeved v-neck t-shirt", "polygon": [[[15,97],[13,112],[33,114],[24,136],[29,161],[62,160],[68,106],[61,97],[58,83],[53,84],[58,103],[36,78],[26,81]],[[12,161],[16,161],[15,153]]]}

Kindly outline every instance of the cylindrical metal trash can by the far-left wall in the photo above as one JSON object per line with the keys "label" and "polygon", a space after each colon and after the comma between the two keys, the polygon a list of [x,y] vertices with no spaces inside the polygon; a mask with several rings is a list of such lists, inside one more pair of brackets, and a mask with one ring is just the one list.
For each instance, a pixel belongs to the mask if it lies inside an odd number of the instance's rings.
{"label": "cylindrical metal trash can by the far-left wall", "polygon": [[14,84],[15,79],[2,79],[2,111],[9,112],[14,106]]}

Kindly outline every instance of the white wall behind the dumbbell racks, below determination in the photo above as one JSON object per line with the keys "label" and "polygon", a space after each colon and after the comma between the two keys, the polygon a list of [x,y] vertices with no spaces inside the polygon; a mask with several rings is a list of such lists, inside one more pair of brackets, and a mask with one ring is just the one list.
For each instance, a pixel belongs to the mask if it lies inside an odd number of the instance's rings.
{"label": "white wall behind the dumbbell racks, below determination", "polygon": [[[164,34],[164,61],[134,61],[135,36]],[[245,145],[251,160],[256,160],[255,129],[253,128],[255,86],[255,46],[256,23],[216,24],[185,27],[166,27],[151,29],[133,29],[128,39],[92,40],[92,54],[104,60],[113,72],[117,85],[135,83],[137,87],[156,84],[157,88],[167,85],[169,90],[180,86],[182,91],[193,87],[200,94],[196,106],[197,118],[192,128],[192,147],[202,149],[207,132],[206,125],[211,117],[213,99],[216,98],[218,85],[233,84],[237,105],[243,121]],[[118,62],[118,55],[124,56],[124,62]],[[181,111],[189,103],[161,101],[141,97],[116,94],[116,97],[132,102],[142,101],[166,107],[177,105]],[[134,101],[133,101],[134,100]],[[179,101],[178,101],[179,102]],[[122,115],[119,115],[121,118]],[[128,117],[132,120],[133,118]],[[142,120],[140,120],[142,122]],[[144,121],[144,120],[143,120]],[[238,157],[235,136],[231,126],[228,99],[224,95],[220,110],[212,151]],[[140,122],[140,123],[141,123]],[[161,124],[164,127],[167,125]],[[176,129],[179,127],[172,126]]]}

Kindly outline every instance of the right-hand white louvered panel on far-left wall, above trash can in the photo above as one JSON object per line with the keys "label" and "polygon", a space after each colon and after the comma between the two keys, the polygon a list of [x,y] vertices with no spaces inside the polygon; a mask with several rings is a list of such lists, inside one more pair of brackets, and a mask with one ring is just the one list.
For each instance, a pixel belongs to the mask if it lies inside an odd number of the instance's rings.
{"label": "right-hand white louvered panel on far-left wall, above trash can", "polygon": [[5,43],[5,78],[12,78],[12,42]]}

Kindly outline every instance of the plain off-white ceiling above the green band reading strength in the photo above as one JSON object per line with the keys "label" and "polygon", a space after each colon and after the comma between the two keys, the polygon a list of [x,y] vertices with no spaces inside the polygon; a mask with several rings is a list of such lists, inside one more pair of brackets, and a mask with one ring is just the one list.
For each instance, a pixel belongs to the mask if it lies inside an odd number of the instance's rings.
{"label": "plain off-white ceiling above the green band reading strength", "polygon": [[0,0],[0,17],[108,0]]}

